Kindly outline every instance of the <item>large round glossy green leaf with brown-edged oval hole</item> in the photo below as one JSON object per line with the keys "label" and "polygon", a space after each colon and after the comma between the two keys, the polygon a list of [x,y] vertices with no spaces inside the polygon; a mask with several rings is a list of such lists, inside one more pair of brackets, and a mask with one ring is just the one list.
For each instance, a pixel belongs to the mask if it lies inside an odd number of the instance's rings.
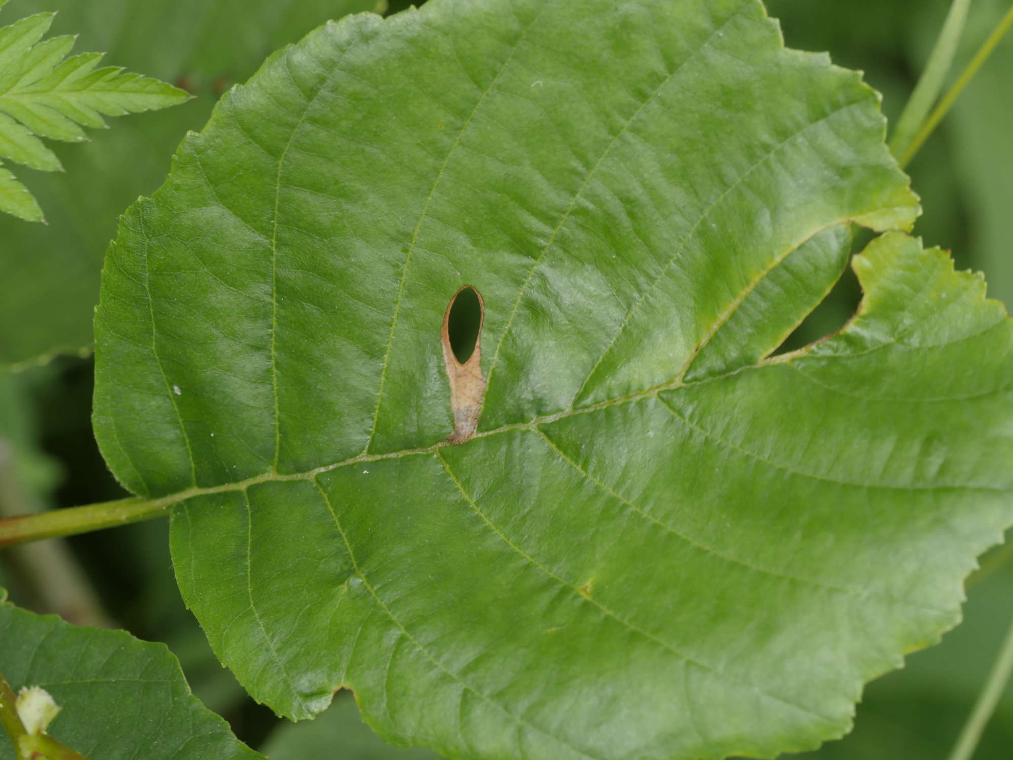
{"label": "large round glossy green leaf with brown-edged oval hole", "polygon": [[[815,746],[1013,522],[1010,323],[752,0],[434,0],[272,57],[126,215],[95,431],[255,698],[458,758]],[[441,347],[485,305],[477,435]],[[176,497],[172,497],[176,495]]]}

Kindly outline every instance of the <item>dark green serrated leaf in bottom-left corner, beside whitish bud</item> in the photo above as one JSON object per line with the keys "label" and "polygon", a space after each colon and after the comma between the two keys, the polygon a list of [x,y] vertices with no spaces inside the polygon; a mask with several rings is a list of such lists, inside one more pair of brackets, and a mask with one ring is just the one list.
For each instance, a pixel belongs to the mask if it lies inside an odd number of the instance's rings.
{"label": "dark green serrated leaf in bottom-left corner, beside whitish bud", "polygon": [[[0,594],[2,599],[2,594]],[[164,644],[0,603],[0,673],[60,705],[49,733],[93,760],[263,760],[190,694]],[[14,751],[0,734],[0,760]]]}

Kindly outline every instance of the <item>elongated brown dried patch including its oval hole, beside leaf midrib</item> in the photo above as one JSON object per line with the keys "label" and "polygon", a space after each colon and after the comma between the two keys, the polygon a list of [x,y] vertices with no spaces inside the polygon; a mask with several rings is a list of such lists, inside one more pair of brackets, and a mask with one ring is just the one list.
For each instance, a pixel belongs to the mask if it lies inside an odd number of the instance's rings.
{"label": "elongated brown dried patch including its oval hole, beside leaf midrib", "polygon": [[448,443],[464,443],[475,435],[485,395],[481,343],[485,304],[477,290],[464,286],[451,299],[444,314],[440,340],[450,379],[454,432]]}

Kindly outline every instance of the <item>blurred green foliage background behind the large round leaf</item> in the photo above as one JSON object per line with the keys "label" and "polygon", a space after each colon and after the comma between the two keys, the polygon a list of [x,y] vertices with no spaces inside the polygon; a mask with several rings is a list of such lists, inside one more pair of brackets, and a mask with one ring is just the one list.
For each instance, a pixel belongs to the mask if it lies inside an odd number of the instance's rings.
{"label": "blurred green foliage background behind the large round leaf", "polygon": [[[574,0],[578,2],[579,0]],[[392,0],[388,12],[406,2]],[[922,70],[947,0],[769,0],[790,47],[829,51],[861,69],[895,119]],[[1010,0],[971,6],[958,72]],[[116,216],[150,194],[188,129],[217,97],[252,74],[280,45],[327,18],[377,7],[375,0],[14,0],[0,21],[59,10],[55,31],[80,32],[77,51],[175,82],[198,97],[182,106],[114,120],[86,145],[57,146],[67,174],[18,169],[49,226],[0,218],[0,513],[73,506],[122,496],[91,436],[91,362],[36,358],[90,343],[97,275]],[[238,23],[233,19],[241,19]],[[951,76],[951,79],[953,76]],[[909,167],[925,214],[916,233],[953,251],[959,269],[986,273],[992,296],[1013,304],[1013,36],[997,50],[951,115]],[[48,290],[40,291],[46,282]],[[850,275],[792,336],[794,346],[833,331],[859,297]],[[30,314],[31,318],[25,315]],[[53,345],[49,335],[62,335]],[[84,352],[86,353],[86,351]],[[359,719],[349,695],[312,723],[280,721],[246,696],[211,653],[173,581],[167,524],[154,521],[0,553],[0,585],[12,601],[75,622],[125,627],[162,640],[182,661],[194,692],[236,734],[278,760],[434,757],[387,748]],[[1013,552],[994,549],[968,583],[965,622],[943,642],[872,682],[855,731],[806,760],[943,760],[987,677],[1013,618]],[[37,568],[52,578],[40,581]],[[1013,757],[1013,690],[989,725],[976,758]],[[97,760],[97,759],[96,759]]]}

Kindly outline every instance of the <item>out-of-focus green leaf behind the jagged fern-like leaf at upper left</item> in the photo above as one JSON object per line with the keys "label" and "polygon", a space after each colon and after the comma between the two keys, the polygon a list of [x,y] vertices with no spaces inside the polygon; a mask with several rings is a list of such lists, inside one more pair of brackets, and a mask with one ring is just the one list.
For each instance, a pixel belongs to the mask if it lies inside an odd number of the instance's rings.
{"label": "out-of-focus green leaf behind the jagged fern-like leaf at upper left", "polygon": [[83,145],[52,145],[66,173],[19,173],[49,225],[0,215],[0,369],[90,351],[98,273],[116,219],[165,178],[186,131],[200,129],[222,90],[252,75],[271,51],[328,18],[377,7],[377,0],[16,0],[6,7],[59,11],[55,33],[80,34],[79,49],[107,51],[106,60],[197,97],[91,132]]}

